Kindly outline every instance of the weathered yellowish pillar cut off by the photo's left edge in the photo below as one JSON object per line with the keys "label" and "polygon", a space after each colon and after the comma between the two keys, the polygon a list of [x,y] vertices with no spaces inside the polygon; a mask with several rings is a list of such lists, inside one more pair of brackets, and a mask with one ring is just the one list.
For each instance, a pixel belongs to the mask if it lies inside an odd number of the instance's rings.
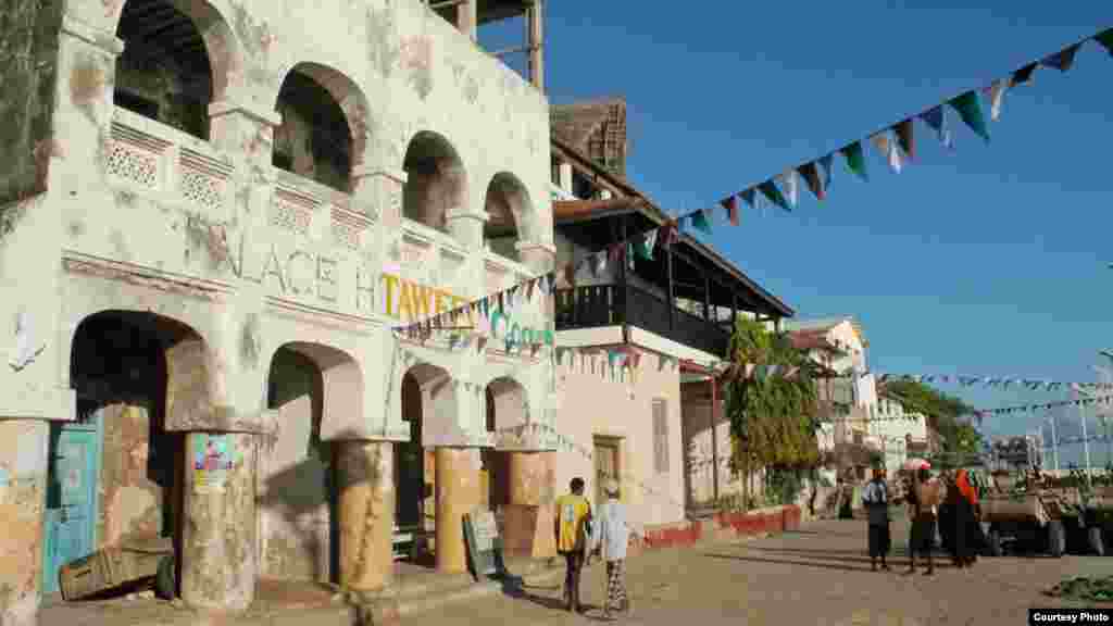
{"label": "weathered yellowish pillar cut off by the photo's left edge", "polygon": [[38,619],[49,432],[47,421],[0,420],[0,626]]}

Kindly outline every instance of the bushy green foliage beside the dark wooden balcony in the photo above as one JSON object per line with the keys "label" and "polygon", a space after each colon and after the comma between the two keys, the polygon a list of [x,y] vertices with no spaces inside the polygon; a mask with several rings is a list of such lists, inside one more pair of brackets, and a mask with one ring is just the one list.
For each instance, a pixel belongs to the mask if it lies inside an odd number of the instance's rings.
{"label": "bushy green foliage beside the dark wooden balcony", "polygon": [[[800,469],[819,459],[814,364],[787,334],[770,333],[752,320],[738,320],[730,339],[732,362],[725,400],[730,419],[732,462],[742,476],[742,506],[749,506],[752,472],[762,467]],[[741,375],[747,363],[754,375]],[[779,373],[767,375],[776,365]],[[795,375],[782,373],[795,371]]]}

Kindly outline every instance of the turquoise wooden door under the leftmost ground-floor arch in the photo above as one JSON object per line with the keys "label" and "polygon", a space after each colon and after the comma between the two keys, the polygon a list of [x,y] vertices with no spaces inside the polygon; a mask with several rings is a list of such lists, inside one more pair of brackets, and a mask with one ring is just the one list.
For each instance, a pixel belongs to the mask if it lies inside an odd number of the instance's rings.
{"label": "turquoise wooden door under the leftmost ground-floor arch", "polygon": [[[99,412],[98,412],[99,413]],[[96,546],[100,419],[51,424],[42,545],[42,593],[57,593],[58,570],[88,556]]]}

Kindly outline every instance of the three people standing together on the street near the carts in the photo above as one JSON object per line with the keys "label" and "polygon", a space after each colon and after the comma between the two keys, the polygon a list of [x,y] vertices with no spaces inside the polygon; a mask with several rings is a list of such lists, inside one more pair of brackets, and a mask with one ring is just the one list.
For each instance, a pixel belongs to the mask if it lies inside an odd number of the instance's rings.
{"label": "three people standing together on the street near the carts", "polygon": [[912,472],[904,497],[893,498],[886,482],[884,468],[874,469],[874,478],[866,485],[863,503],[869,524],[870,568],[889,569],[886,557],[892,548],[889,507],[904,502],[908,511],[908,573],[916,571],[916,557],[927,561],[925,575],[935,573],[932,558],[936,531],[943,536],[944,548],[951,552],[956,567],[974,565],[982,550],[984,538],[979,521],[978,490],[971,473],[961,469],[949,485],[932,477],[927,468]]}

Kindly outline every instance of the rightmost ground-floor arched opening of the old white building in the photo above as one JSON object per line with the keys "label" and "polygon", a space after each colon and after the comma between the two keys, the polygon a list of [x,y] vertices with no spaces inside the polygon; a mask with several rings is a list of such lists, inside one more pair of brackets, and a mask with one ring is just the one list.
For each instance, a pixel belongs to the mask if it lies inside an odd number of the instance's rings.
{"label": "rightmost ground-floor arched opening of the old white building", "polygon": [[[489,432],[505,432],[528,421],[525,389],[514,379],[502,376],[491,381],[485,397]],[[481,489],[481,498],[483,505],[498,517],[502,507],[510,503],[510,457],[506,452],[484,448],[482,461],[481,480],[485,482],[485,488]]]}

